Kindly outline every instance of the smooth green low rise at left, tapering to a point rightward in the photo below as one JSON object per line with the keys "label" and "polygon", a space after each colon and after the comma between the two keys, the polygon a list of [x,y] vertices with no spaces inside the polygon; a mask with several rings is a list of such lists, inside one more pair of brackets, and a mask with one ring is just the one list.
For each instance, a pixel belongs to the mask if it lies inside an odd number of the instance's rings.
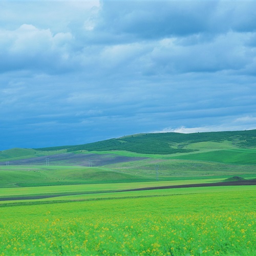
{"label": "smooth green low rise at left, tapering to a point rightward", "polygon": [[149,180],[107,167],[84,166],[0,166],[0,187],[48,186]]}

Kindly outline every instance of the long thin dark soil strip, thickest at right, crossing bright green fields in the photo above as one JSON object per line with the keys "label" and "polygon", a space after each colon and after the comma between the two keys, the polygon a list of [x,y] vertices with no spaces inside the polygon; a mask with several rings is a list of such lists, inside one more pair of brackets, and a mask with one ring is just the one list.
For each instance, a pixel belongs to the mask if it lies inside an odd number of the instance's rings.
{"label": "long thin dark soil strip, thickest at right, crossing bright green fields", "polygon": [[[245,185],[256,185],[255,180],[247,180],[247,181],[230,181],[230,182],[217,182],[217,183],[201,183],[201,184],[185,184],[185,185],[175,185],[175,186],[160,186],[160,187],[142,187],[142,188],[133,188],[126,190],[118,190],[118,191],[100,191],[99,193],[113,193],[113,192],[126,192],[126,191],[140,191],[140,190],[153,190],[153,189],[168,189],[168,188],[183,188],[183,187],[215,187],[215,186],[245,186]],[[32,199],[45,199],[52,197],[61,197],[61,196],[75,196],[82,195],[85,193],[79,194],[70,194],[70,195],[45,195],[45,196],[28,196],[28,197],[5,197],[0,198],[0,201],[14,201],[14,200],[32,200]],[[98,193],[95,193],[98,194]]]}

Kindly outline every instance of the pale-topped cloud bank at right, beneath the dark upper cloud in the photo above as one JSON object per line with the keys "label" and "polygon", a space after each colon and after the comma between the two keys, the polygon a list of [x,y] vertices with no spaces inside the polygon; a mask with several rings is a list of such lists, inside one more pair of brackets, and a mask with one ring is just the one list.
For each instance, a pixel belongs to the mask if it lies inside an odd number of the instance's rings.
{"label": "pale-topped cloud bank at right, beneath the dark upper cloud", "polygon": [[159,41],[148,58],[152,69],[166,73],[243,70],[255,58],[251,48],[245,46],[248,37],[248,34],[229,32],[211,40],[197,41],[196,36],[166,38]]}

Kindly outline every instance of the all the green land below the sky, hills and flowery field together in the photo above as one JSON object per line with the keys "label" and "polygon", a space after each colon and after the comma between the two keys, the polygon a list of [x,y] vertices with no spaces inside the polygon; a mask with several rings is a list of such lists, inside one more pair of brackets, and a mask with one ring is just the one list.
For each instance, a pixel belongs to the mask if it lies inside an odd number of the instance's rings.
{"label": "all the green land below the sky, hills and flowery field together", "polygon": [[256,255],[255,148],[254,130],[2,151],[1,255]]}

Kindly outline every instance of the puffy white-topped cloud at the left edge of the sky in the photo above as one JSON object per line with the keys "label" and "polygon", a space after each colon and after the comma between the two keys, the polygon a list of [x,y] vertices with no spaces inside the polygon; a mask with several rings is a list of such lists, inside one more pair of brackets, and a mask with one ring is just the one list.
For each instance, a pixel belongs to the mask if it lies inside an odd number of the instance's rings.
{"label": "puffy white-topped cloud at the left edge of the sky", "polygon": [[51,73],[70,69],[70,33],[53,35],[50,29],[24,24],[13,31],[0,30],[0,72],[37,70]]}

